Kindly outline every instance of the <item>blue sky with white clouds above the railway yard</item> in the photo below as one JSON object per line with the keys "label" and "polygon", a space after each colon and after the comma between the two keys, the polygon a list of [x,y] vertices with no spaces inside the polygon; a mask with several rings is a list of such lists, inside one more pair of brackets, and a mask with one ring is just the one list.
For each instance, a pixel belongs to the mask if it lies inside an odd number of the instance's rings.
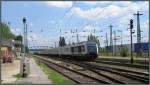
{"label": "blue sky with white clouds above the railway yard", "polygon": [[[121,32],[123,44],[130,43],[129,22],[133,19],[133,42],[137,42],[137,17],[140,11],[142,42],[148,42],[148,1],[2,1],[2,22],[10,23],[15,35],[23,33],[23,17],[27,19],[29,46],[58,46],[60,36],[66,43],[86,41],[87,36],[98,36],[100,46],[105,46],[106,34],[110,40],[110,25],[116,31],[119,45]],[[76,32],[77,29],[77,32]],[[95,30],[95,32],[94,32]],[[72,31],[72,32],[71,32]],[[113,32],[114,39],[114,32]],[[109,43],[108,43],[109,44]]]}

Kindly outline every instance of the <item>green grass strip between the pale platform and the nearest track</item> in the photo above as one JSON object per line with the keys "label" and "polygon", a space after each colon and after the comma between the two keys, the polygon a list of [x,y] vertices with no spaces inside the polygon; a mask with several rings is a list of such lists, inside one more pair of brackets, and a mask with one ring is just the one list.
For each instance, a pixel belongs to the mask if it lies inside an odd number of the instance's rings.
{"label": "green grass strip between the pale platform and the nearest track", "polygon": [[43,63],[39,63],[38,60],[36,60],[36,63],[40,66],[40,68],[48,75],[48,79],[50,79],[54,84],[72,84],[74,83],[72,80],[67,79],[60,73],[54,71],[53,69],[50,69]]}

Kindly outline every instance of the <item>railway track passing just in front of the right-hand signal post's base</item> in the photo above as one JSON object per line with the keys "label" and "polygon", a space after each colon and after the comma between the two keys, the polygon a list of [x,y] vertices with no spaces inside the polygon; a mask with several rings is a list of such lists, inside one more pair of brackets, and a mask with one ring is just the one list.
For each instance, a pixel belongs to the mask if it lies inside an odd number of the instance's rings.
{"label": "railway track passing just in front of the right-hand signal post's base", "polygon": [[149,65],[142,65],[142,64],[129,64],[129,63],[116,62],[116,61],[99,61],[99,60],[95,60],[94,62],[118,65],[118,66],[126,66],[126,67],[132,67],[132,68],[149,69]]}

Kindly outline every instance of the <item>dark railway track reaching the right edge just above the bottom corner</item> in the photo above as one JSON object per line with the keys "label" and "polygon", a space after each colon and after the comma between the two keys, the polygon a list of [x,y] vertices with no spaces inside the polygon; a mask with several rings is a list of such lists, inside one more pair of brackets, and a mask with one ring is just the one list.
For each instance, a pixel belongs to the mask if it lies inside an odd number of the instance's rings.
{"label": "dark railway track reaching the right edge just above the bottom corner", "polygon": [[111,73],[118,74],[118,75],[130,78],[130,79],[135,79],[135,80],[141,81],[143,83],[149,83],[149,74],[148,73],[141,73],[141,72],[132,71],[132,70],[106,67],[106,66],[94,65],[94,64],[89,64],[89,63],[86,63],[86,65],[93,69],[109,71]]}

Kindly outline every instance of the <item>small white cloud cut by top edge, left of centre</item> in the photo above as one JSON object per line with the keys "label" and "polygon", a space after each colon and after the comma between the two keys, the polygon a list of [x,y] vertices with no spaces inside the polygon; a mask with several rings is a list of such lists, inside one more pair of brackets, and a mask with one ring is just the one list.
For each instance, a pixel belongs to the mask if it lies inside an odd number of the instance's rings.
{"label": "small white cloud cut by top edge, left of centre", "polygon": [[72,1],[46,1],[44,3],[58,8],[69,8],[73,5]]}

